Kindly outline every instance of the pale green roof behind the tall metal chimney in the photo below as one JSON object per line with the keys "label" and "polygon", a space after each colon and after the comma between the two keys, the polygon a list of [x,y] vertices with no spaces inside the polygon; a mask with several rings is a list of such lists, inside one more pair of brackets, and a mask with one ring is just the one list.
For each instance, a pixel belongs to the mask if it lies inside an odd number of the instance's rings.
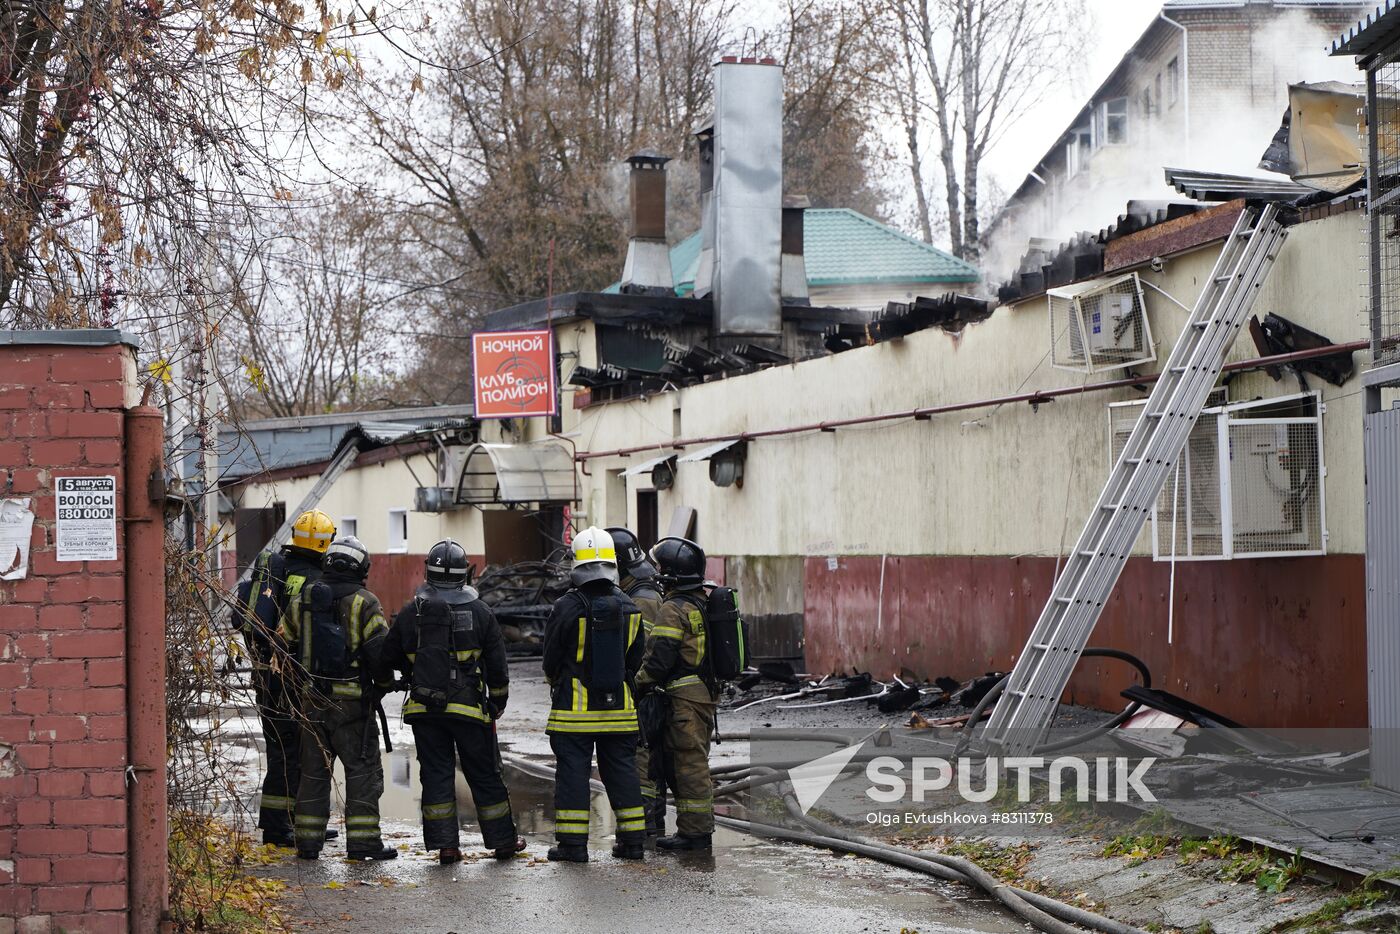
{"label": "pale green roof behind the tall metal chimney", "polygon": [[[808,286],[864,286],[875,283],[974,283],[981,273],[972,263],[902,234],[847,207],[813,207],[802,220],[802,251]],[[671,276],[676,294],[694,288],[700,265],[700,234],[671,248]],[[613,283],[605,291],[617,291]]]}

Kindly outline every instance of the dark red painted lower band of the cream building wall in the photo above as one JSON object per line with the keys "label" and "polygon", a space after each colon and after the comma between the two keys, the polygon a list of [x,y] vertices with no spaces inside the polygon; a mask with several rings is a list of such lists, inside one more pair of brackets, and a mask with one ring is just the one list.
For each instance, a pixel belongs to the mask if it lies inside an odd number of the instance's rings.
{"label": "dark red painted lower band of the cream building wall", "polygon": [[[881,570],[883,564],[883,592]],[[826,557],[804,569],[815,674],[1009,671],[1054,580],[1053,557]],[[1154,686],[1250,727],[1366,725],[1365,557],[1128,562],[1091,644],[1142,658]],[[1074,703],[1120,709],[1137,674],[1085,660]]]}

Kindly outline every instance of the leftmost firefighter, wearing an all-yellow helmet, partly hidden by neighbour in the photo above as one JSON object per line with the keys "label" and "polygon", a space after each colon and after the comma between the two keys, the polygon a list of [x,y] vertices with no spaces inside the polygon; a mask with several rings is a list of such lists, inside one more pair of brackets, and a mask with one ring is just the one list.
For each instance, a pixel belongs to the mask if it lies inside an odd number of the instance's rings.
{"label": "leftmost firefighter, wearing an all-yellow helmet, partly hidden by neighbour", "polygon": [[[336,536],[336,525],[321,510],[309,510],[291,525],[291,542],[280,553],[262,552],[238,591],[244,644],[253,662],[253,692],[267,746],[258,826],[263,843],[291,847],[291,808],[301,781],[301,728],[293,709],[295,679],[277,651],[277,623],[287,604],[321,578],[321,559]],[[335,836],[328,830],[326,836]]]}

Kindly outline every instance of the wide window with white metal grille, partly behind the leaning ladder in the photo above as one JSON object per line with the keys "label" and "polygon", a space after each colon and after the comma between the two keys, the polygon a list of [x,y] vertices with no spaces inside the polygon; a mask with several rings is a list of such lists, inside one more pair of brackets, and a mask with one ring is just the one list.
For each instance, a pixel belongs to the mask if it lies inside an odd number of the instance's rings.
{"label": "wide window with white metal grille, partly behind the leaning ladder", "polygon": [[[1109,406],[1114,461],[1144,405]],[[1235,405],[1212,395],[1158,497],[1152,555],[1158,560],[1324,555],[1324,478],[1317,393]]]}

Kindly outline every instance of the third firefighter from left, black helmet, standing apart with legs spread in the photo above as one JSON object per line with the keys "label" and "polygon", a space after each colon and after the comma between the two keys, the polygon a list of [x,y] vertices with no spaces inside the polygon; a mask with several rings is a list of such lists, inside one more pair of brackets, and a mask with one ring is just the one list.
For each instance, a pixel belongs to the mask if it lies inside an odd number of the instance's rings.
{"label": "third firefighter from left, black helmet, standing apart with legs spread", "polygon": [[403,672],[423,774],[423,843],[438,863],[462,860],[456,823],[456,769],[472,790],[486,846],[497,860],[525,849],[501,774],[496,720],[510,697],[510,667],[496,615],[470,587],[466,549],[444,539],[428,550],[426,581],[399,615],[384,662]]}

